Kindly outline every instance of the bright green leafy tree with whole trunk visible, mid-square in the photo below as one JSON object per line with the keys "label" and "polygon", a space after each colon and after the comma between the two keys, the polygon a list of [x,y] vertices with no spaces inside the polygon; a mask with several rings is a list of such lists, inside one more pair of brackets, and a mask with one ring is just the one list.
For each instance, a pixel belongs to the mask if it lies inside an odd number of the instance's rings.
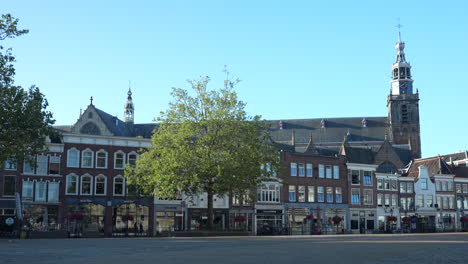
{"label": "bright green leafy tree with whole trunk visible, mid-square", "polygon": [[127,169],[127,177],[158,197],[171,198],[176,191],[206,193],[211,229],[213,198],[246,194],[273,176],[279,151],[267,123],[248,116],[245,103],[238,100],[234,87],[239,80],[230,80],[227,73],[219,90],[208,90],[209,81],[189,81],[195,96],[173,88],[169,109],[157,119],[152,147],[135,168]]}

